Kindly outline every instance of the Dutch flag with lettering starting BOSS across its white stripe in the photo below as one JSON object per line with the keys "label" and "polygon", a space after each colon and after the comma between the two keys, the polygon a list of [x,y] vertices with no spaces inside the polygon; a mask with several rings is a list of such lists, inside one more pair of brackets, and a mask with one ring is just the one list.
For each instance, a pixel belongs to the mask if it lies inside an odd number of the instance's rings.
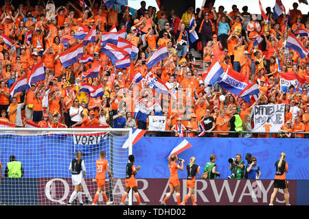
{"label": "Dutch flag with lettering starting BOSS across its white stripe", "polygon": [[231,68],[227,69],[227,72],[222,74],[221,78],[218,85],[236,95],[240,94],[249,84],[249,79],[246,75],[242,75]]}

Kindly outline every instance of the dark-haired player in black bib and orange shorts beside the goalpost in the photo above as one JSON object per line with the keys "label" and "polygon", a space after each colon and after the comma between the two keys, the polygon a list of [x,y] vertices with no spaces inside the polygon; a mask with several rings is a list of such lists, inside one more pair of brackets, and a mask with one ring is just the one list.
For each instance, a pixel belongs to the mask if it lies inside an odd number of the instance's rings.
{"label": "dark-haired player in black bib and orange shorts beside the goalpost", "polygon": [[139,203],[139,205],[146,205],[145,203],[141,203],[141,198],[139,198],[139,192],[137,190],[137,181],[135,179],[135,175],[137,175],[137,171],[141,168],[141,166],[135,167],[135,164],[133,164],[135,162],[134,155],[129,155],[128,160],[130,162],[126,164],[126,192],[124,192],[122,196],[122,202],[120,203],[120,205],[124,205],[126,196],[128,196],[131,188],[135,192],[135,198],[137,199],[137,203]]}

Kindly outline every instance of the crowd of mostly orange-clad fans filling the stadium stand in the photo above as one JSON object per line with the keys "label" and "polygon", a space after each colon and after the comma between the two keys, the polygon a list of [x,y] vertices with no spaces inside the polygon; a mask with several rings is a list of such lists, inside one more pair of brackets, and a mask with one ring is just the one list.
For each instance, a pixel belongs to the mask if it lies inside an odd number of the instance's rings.
{"label": "crowd of mostly orange-clad fans filling the stadium stand", "polygon": [[[240,11],[237,5],[218,10],[211,3],[205,7],[187,8],[183,14],[155,7],[141,1],[141,8],[132,12],[126,5],[106,6],[104,1],[67,1],[56,5],[53,1],[19,3],[5,0],[0,8],[0,122],[15,127],[131,127],[148,129],[148,116],[165,116],[165,130],[174,136],[196,137],[231,136],[222,131],[252,131],[253,105],[286,105],[284,126],[277,130],[282,138],[291,132],[309,132],[309,55],[301,58],[297,51],[285,47],[290,31],[309,49],[309,20],[299,10],[298,3],[275,18],[273,9],[266,8],[269,24],[250,13],[250,7]],[[190,27],[192,16],[195,19]],[[80,44],[74,36],[80,23],[91,29],[95,25],[95,42],[83,48],[83,55],[93,57],[64,67],[60,54]],[[126,28],[126,40],[138,48],[138,55],[130,66],[115,68],[102,47],[102,35],[116,28]],[[196,31],[198,40],[190,34]],[[32,33],[32,37],[28,38]],[[10,39],[12,44],[5,42]],[[261,39],[255,44],[255,40]],[[161,45],[168,48],[165,58],[151,69],[147,62]],[[201,59],[198,59],[198,55]],[[43,60],[45,80],[33,83],[30,89],[16,92],[12,88],[32,67]],[[279,61],[277,61],[279,60]],[[211,66],[219,62],[223,70],[233,69],[256,81],[260,94],[247,103],[238,95],[220,86],[204,83]],[[101,66],[98,77],[84,77],[83,73]],[[138,71],[143,79],[133,81]],[[155,92],[147,83],[149,73],[168,87],[171,96]],[[304,86],[280,89],[281,73],[295,72],[306,81]],[[81,91],[81,84],[102,86],[103,93],[91,97]],[[143,103],[146,107],[136,110]],[[221,131],[214,133],[214,131]],[[156,132],[148,132],[156,136]],[[251,137],[247,133],[246,137]],[[297,137],[308,138],[308,134]]]}

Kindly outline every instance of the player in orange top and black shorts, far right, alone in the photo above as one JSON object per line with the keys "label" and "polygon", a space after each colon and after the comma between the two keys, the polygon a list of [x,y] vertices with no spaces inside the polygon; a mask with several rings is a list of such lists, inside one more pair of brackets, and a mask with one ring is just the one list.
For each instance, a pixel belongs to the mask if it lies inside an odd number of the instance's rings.
{"label": "player in orange top and black shorts, far right, alone", "polygon": [[280,154],[280,159],[275,162],[276,173],[275,181],[273,183],[273,194],[271,194],[271,202],[269,205],[273,205],[273,201],[277,195],[279,189],[284,190],[284,200],[286,205],[290,205],[288,198],[288,184],[286,183],[286,172],[288,172],[288,162],[285,160],[286,153],[282,152]]}

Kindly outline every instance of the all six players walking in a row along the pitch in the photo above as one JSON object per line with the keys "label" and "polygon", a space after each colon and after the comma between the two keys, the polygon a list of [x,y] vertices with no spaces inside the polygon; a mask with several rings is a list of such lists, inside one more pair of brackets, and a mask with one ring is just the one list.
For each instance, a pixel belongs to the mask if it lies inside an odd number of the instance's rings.
{"label": "all six players walking in a row along the pitch", "polygon": [[[98,190],[95,193],[93,198],[93,205],[97,205],[98,199],[100,194],[102,194],[106,205],[111,205],[113,201],[109,201],[106,192],[105,192],[105,179],[106,179],[106,172],[108,173],[109,177],[113,179],[113,175],[111,174],[111,170],[108,168],[108,160],[105,159],[106,153],[105,151],[101,151],[100,159],[97,159],[95,162],[95,166],[97,167],[97,173],[95,175],[95,179],[98,185]],[[288,162],[285,160],[286,154],[282,152],[280,154],[280,159],[275,162],[275,181],[273,184],[273,193],[271,194],[271,201],[269,205],[273,205],[273,201],[277,195],[279,189],[284,190],[284,200],[286,201],[286,205],[290,205],[289,197],[288,197],[288,186],[286,183],[286,172],[288,172]],[[137,171],[141,168],[141,166],[135,166],[135,157],[134,155],[128,156],[128,164],[126,165],[126,191],[122,195],[122,201],[120,205],[124,205],[124,201],[128,196],[128,193],[132,189],[135,192],[135,198],[137,199],[137,203],[139,205],[146,205],[146,203],[141,203],[141,198],[139,197],[139,192],[137,189],[137,181],[135,179],[135,175],[137,175]],[[170,169],[170,192],[165,195],[161,205],[165,205],[168,198],[176,192],[176,201],[177,205],[185,205],[186,201],[191,197],[192,205],[197,205],[195,202],[194,196],[194,189],[196,184],[196,175],[200,174],[200,166],[196,165],[195,157],[190,158],[190,164],[186,166],[187,170],[187,188],[189,189],[187,195],[181,202],[181,195],[180,195],[180,182],[178,177],[178,170],[183,170],[183,163],[185,162],[184,159],[179,159],[176,154],[170,155],[168,168]],[[69,170],[72,174],[72,183],[74,185],[74,191],[69,198],[68,205],[75,200],[76,196],[78,196],[78,201],[82,205],[82,177],[86,175],[86,168],[84,166],[84,160],[82,160],[82,152],[78,151],[76,158],[71,160]]]}

